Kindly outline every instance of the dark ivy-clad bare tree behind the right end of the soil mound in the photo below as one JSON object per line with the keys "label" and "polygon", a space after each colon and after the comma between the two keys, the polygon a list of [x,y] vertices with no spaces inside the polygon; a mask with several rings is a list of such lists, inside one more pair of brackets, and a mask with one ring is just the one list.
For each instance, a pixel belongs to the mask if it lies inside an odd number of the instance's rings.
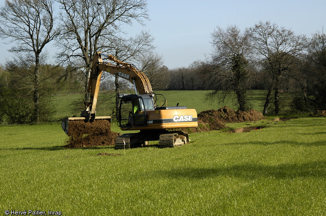
{"label": "dark ivy-clad bare tree behind the right end of the soil mound", "polygon": [[219,66],[216,72],[226,79],[225,90],[235,91],[239,110],[249,109],[246,99],[249,80],[246,58],[250,53],[248,35],[241,33],[237,26],[228,26],[225,30],[217,27],[212,33],[212,44],[213,62]]}

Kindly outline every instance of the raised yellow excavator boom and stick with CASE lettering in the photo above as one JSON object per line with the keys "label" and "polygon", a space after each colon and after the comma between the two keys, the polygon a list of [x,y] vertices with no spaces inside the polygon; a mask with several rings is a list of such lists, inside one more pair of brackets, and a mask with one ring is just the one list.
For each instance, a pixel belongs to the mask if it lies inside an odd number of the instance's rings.
{"label": "raised yellow excavator boom and stick with CASE lettering", "polygon": [[[116,65],[103,62],[102,56],[115,62]],[[151,94],[153,92],[145,74],[135,66],[119,61],[112,55],[104,55],[101,52],[96,52],[88,83],[89,100],[85,102],[85,110],[81,114],[82,117],[85,117],[85,121],[93,121],[95,118],[95,108],[103,71],[107,71],[133,83],[139,94]]]}

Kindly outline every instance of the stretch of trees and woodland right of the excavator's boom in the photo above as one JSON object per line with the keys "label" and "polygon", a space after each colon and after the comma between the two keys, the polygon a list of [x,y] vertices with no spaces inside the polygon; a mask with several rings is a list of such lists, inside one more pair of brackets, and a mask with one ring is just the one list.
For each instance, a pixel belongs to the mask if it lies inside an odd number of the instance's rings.
{"label": "stretch of trees and woodland right of the excavator's boom", "polygon": [[[263,114],[278,114],[280,92],[290,92],[292,110],[326,109],[326,34],[297,35],[275,23],[258,22],[241,31],[217,27],[213,52],[187,68],[169,70],[168,90],[214,90],[223,100],[235,94],[238,109],[250,109],[247,90],[266,90]],[[274,109],[269,111],[273,101]]]}

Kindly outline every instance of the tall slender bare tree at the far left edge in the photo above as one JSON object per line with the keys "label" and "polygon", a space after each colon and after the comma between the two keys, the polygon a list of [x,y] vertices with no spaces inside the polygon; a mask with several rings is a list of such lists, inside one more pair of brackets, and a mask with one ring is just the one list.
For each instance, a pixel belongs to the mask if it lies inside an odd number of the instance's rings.
{"label": "tall slender bare tree at the far left edge", "polygon": [[34,118],[39,122],[40,56],[44,47],[59,35],[54,29],[53,0],[5,0],[0,9],[0,36],[14,43],[9,51],[22,53],[34,63]]}

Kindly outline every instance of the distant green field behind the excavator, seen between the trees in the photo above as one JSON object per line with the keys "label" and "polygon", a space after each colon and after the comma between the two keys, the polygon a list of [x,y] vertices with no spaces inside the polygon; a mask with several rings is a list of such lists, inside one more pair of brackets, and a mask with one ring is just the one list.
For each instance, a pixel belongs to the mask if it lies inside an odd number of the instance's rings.
{"label": "distant green field behind the excavator, seen between the trees", "polygon": [[[205,96],[207,93],[211,91],[156,91],[155,93],[163,94],[167,100],[168,106],[176,106],[177,103],[179,105],[187,106],[188,108],[194,108],[198,113],[204,110],[210,109],[219,109],[223,106],[228,106],[231,109],[236,110],[236,98],[231,98],[223,102],[218,102],[217,100],[208,101],[205,100]],[[266,92],[263,90],[251,90],[248,91],[249,100],[251,102],[252,107],[259,111],[263,111],[263,106],[265,103]],[[112,110],[114,108],[115,100],[109,100],[111,97],[114,97],[113,94],[108,92],[100,92],[99,101],[97,104],[96,113],[98,116],[111,116]],[[56,114],[54,116],[55,119],[61,119],[64,116],[79,116],[80,111],[72,111],[72,102],[80,100],[81,108],[83,106],[83,97],[78,94],[71,95],[59,95],[54,96],[54,109],[56,110]],[[163,97],[158,98],[157,105],[161,104],[161,100]],[[288,111],[289,101],[287,99],[287,94],[281,94],[281,111]],[[271,104],[272,106],[272,104]],[[272,109],[272,108],[271,108]]]}

